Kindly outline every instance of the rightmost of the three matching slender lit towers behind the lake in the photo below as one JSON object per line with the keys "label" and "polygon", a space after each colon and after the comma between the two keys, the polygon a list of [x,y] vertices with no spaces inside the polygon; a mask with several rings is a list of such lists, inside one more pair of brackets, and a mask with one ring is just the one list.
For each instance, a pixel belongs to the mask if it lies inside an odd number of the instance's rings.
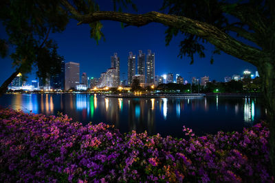
{"label": "rightmost of the three matching slender lit towers behind the lake", "polygon": [[148,49],[146,56],[146,83],[155,83],[155,53]]}

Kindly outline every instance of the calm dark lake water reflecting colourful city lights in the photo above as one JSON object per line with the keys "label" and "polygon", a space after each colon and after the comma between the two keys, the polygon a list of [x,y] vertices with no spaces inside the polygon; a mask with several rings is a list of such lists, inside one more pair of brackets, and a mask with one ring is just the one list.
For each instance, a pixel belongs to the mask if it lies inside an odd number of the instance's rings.
{"label": "calm dark lake water reflecting colourful city lights", "polygon": [[202,135],[241,131],[265,119],[261,98],[245,97],[118,99],[86,94],[17,94],[3,95],[0,105],[47,115],[63,112],[83,124],[113,124],[120,132],[146,130],[150,135],[174,137],[183,136],[183,125]]}

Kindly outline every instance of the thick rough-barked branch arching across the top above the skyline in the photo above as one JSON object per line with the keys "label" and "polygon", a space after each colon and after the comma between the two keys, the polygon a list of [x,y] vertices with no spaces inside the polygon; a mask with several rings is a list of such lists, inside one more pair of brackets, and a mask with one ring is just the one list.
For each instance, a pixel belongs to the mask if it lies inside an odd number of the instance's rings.
{"label": "thick rough-barked branch arching across the top above the skyline", "polygon": [[[63,0],[63,5],[68,10],[72,10],[72,14],[78,14],[72,5]],[[146,14],[129,14],[123,12],[98,11],[92,14],[79,15],[78,21],[81,23],[93,23],[96,21],[109,20],[119,21],[127,25],[134,25],[137,27],[147,25],[148,23],[162,23],[169,27],[175,27],[182,32],[194,34],[201,38],[208,40],[212,45],[216,46],[221,51],[228,53],[236,58],[245,60],[258,65],[258,60],[262,57],[261,50],[245,45],[225,32],[222,32],[217,27],[208,23],[188,19],[184,16],[175,16],[170,14],[162,14],[159,12],[148,12]]]}

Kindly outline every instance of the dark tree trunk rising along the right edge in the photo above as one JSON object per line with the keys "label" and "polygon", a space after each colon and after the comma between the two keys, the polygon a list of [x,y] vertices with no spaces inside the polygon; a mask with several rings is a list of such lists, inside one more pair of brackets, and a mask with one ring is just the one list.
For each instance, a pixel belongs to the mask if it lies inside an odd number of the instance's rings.
{"label": "dark tree trunk rising along the right edge", "polygon": [[[275,58],[275,57],[274,57]],[[267,123],[270,125],[270,160],[272,175],[275,175],[275,64],[271,61],[261,60],[258,67],[262,81],[262,91],[267,110]]]}

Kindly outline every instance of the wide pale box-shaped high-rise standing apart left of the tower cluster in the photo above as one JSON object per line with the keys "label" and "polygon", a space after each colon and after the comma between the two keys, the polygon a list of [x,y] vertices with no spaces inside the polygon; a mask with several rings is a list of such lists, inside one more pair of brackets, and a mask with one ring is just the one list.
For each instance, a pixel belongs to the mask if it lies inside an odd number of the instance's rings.
{"label": "wide pale box-shaped high-rise standing apart left of the tower cluster", "polygon": [[79,63],[67,62],[65,64],[65,90],[76,89],[76,85],[80,84],[79,79]]}

